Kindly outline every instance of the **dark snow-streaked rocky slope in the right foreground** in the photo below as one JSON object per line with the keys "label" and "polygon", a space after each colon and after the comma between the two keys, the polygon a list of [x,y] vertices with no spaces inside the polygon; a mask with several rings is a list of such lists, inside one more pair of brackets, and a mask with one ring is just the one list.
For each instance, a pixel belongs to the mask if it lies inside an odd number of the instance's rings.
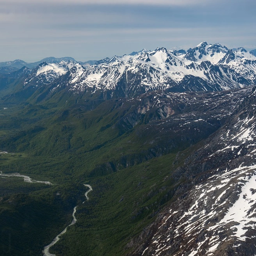
{"label": "dark snow-streaked rocky slope in the right foreground", "polygon": [[178,200],[129,255],[255,255],[256,94],[173,173]]}

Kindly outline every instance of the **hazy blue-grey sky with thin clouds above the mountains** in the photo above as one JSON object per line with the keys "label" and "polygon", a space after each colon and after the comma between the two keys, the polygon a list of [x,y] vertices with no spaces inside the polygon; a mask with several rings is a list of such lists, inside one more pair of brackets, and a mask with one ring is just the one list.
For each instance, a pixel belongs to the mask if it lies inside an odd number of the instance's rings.
{"label": "hazy blue-grey sky with thin clouds above the mountains", "polygon": [[255,0],[0,0],[0,62],[100,60],[143,48],[256,49]]}

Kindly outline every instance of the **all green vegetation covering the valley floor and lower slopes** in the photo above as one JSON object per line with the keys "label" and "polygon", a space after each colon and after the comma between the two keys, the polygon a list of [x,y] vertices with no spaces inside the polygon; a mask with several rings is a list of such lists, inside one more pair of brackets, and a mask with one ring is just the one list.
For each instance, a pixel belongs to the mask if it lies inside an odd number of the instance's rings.
{"label": "all green vegetation covering the valley floor and lower slopes", "polygon": [[[127,253],[130,239],[173,199],[180,183],[171,173],[195,150],[176,135],[158,133],[150,121],[154,113],[138,114],[126,101],[105,101],[93,110],[82,104],[61,109],[30,103],[6,110],[0,148],[9,154],[0,154],[1,170],[53,185],[0,177],[1,255],[42,255],[70,223],[75,205],[76,225],[51,252]],[[83,204],[84,183],[93,191]]]}

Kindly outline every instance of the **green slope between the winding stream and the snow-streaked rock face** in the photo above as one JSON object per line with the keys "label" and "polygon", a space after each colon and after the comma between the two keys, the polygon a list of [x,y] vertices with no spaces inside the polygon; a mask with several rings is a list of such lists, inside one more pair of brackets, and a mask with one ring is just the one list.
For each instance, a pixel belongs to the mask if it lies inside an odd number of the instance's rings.
{"label": "green slope between the winding stream and the snow-streaked rock face", "polygon": [[[89,180],[90,200],[78,208],[77,225],[56,244],[54,253],[64,247],[66,255],[122,255],[129,239],[172,198],[178,186],[169,178],[174,157],[166,155]],[[76,251],[72,244],[77,244]]]}

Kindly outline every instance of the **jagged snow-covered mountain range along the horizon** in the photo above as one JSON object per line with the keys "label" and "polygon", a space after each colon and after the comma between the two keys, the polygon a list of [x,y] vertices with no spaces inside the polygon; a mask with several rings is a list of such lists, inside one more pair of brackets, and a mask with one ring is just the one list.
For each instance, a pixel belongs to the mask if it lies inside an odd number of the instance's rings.
{"label": "jagged snow-covered mountain range along the horizon", "polygon": [[[36,70],[47,71],[38,76],[38,71],[32,70],[24,86],[35,86],[32,78],[35,76],[36,86],[47,84],[49,89],[45,90],[51,93],[62,90],[91,95],[97,92],[105,98],[132,98],[155,90],[220,91],[256,82],[256,57],[253,54],[243,48],[229,50],[226,46],[206,42],[187,52],[162,47],[106,58],[94,65],[72,60],[64,62],[65,71],[63,61],[41,63]],[[44,95],[46,97],[46,93]]]}

